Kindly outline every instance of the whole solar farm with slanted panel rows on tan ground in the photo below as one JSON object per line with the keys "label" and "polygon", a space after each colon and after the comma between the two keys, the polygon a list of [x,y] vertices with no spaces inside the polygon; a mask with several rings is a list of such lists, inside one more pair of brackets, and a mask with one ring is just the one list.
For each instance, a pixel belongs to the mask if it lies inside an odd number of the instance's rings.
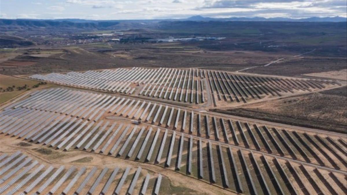
{"label": "whole solar farm with slanted panel rows on tan ground", "polygon": [[[178,178],[196,194],[346,194],[345,134],[209,110],[326,90],[338,80],[196,68],[28,78],[60,86],[2,107],[0,194],[174,194],[165,190]],[[108,163],[45,161],[17,143]]]}

